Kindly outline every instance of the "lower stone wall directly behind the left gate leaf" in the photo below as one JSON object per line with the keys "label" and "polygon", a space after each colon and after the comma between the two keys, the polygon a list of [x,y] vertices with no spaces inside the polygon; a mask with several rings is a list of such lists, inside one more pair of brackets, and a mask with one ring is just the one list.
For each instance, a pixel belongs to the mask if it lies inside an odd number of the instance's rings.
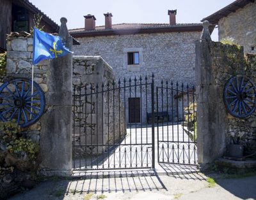
{"label": "lower stone wall directly behind the left gate leaf", "polygon": [[73,57],[73,87],[76,92],[73,143],[92,145],[86,150],[75,149],[77,156],[91,151],[94,154],[102,152],[102,146],[97,148],[93,145],[113,144],[126,134],[124,106],[118,90],[112,90],[114,81],[113,69],[100,56]]}

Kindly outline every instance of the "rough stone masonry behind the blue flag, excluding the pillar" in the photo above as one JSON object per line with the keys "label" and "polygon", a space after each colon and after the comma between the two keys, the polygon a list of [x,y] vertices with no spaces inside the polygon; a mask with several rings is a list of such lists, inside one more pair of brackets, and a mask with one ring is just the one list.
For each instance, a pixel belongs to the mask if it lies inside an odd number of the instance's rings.
{"label": "rough stone masonry behind the blue flag, excluding the pillar", "polygon": [[[13,78],[31,79],[33,36],[10,36],[7,38],[6,78],[4,82]],[[45,94],[48,92],[47,71],[49,61],[34,67],[34,81],[40,85]],[[45,107],[47,110],[49,106]],[[28,138],[36,143],[40,140],[41,120],[24,130]]]}

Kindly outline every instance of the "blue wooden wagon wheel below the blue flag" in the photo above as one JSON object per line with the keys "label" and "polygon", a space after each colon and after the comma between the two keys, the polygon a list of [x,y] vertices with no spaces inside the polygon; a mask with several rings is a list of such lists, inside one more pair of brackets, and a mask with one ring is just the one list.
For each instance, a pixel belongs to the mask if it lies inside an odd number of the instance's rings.
{"label": "blue wooden wagon wheel below the blue flag", "polygon": [[0,119],[16,120],[20,127],[34,124],[44,113],[45,97],[40,86],[25,78],[3,83],[0,87]]}

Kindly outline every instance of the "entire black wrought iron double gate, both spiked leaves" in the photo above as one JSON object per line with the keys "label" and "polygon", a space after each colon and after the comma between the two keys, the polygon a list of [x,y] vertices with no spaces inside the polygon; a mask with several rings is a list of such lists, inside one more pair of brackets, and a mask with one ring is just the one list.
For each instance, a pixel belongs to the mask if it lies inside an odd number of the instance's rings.
{"label": "entire black wrought iron double gate, both spiked leaves", "polygon": [[163,81],[154,90],[154,75],[74,87],[74,170],[155,168],[155,152],[158,162],[196,164],[194,90]]}

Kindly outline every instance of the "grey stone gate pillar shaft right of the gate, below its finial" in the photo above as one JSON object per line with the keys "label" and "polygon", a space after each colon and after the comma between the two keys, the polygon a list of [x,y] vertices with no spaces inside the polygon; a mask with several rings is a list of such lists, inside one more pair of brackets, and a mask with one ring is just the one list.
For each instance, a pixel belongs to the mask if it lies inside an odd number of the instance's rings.
{"label": "grey stone gate pillar shaft right of the gate, below its finial", "polygon": [[225,106],[213,71],[209,43],[196,41],[197,148],[198,164],[203,166],[225,150]]}

